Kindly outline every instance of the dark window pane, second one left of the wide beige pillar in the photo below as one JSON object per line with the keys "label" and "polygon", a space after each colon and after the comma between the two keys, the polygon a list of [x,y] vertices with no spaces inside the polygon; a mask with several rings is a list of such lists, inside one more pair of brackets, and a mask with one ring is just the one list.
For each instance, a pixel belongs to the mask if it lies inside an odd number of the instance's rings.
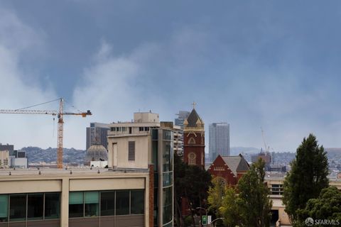
{"label": "dark window pane, second one left of the wide beige pillar", "polygon": [[28,220],[43,219],[44,194],[27,195],[27,218]]}

